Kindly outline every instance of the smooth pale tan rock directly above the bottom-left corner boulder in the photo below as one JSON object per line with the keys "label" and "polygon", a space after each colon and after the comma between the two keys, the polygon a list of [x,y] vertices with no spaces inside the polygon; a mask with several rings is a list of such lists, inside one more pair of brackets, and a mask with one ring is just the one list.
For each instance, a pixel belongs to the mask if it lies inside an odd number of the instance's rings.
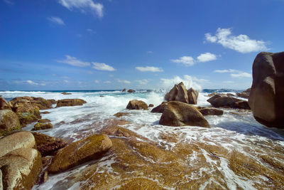
{"label": "smooth pale tan rock directly above the bottom-left corner boulder", "polygon": [[35,138],[31,132],[16,132],[0,139],[0,157],[22,147],[35,147]]}

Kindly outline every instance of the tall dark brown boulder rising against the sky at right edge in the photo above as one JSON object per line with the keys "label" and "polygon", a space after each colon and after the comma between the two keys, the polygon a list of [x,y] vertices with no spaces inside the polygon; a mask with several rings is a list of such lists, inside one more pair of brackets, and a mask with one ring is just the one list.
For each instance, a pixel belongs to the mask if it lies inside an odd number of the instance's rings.
{"label": "tall dark brown boulder rising against the sky at right edge", "polygon": [[256,56],[249,105],[261,124],[284,128],[284,52]]}

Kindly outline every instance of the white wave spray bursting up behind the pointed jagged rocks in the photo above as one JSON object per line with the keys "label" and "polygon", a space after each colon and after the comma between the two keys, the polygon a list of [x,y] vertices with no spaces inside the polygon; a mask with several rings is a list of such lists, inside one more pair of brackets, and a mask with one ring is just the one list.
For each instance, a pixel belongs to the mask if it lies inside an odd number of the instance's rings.
{"label": "white wave spray bursting up behind the pointed jagged rocks", "polygon": [[174,78],[161,78],[160,80],[163,85],[163,88],[165,88],[166,90],[173,88],[175,84],[183,82],[187,89],[194,88],[195,90],[201,91],[202,84],[209,83],[208,80],[205,80],[202,78],[196,78],[190,75],[184,75],[183,78],[180,78],[179,76],[175,76]]}

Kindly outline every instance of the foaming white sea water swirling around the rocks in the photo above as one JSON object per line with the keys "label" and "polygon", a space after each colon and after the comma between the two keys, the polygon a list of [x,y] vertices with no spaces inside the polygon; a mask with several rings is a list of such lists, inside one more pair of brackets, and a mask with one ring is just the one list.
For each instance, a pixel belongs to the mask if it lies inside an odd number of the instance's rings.
{"label": "foaming white sea water swirling around the rocks", "polygon": [[[206,107],[210,106],[207,99],[209,93],[233,93],[236,94],[241,90],[202,90],[200,93],[197,105]],[[284,149],[284,131],[265,127],[256,120],[250,111],[237,112],[232,109],[224,110],[222,116],[206,116],[211,128],[203,127],[168,127],[159,125],[160,113],[151,113],[150,110],[126,110],[126,105],[129,100],[143,100],[147,104],[154,106],[160,105],[165,96],[165,90],[137,90],[136,93],[122,93],[121,90],[70,90],[65,91],[72,93],[72,95],[62,95],[62,91],[0,91],[6,100],[11,100],[13,97],[31,96],[43,97],[45,99],[66,99],[66,98],[80,98],[86,100],[87,103],[82,106],[74,107],[58,107],[55,109],[44,110],[50,112],[49,114],[42,114],[43,119],[51,120],[53,129],[40,131],[52,137],[60,137],[68,142],[75,142],[78,139],[87,137],[89,134],[94,134],[101,130],[106,120],[115,119],[116,112],[128,112],[129,115],[120,117],[119,119],[131,122],[129,125],[124,125],[129,130],[140,134],[143,137],[151,139],[151,141],[160,144],[165,149],[173,149],[176,142],[165,142],[161,138],[161,134],[178,134],[179,141],[193,143],[193,144],[211,144],[222,146],[231,152],[232,149],[241,152],[251,159],[263,163],[261,155],[265,154],[266,149],[273,144],[273,147],[278,147],[283,151]],[[54,105],[55,107],[55,105]],[[117,119],[117,118],[116,118]],[[33,124],[24,127],[23,130],[31,130]],[[209,152],[202,151],[204,158],[210,167],[198,170],[198,175],[204,175],[219,170],[223,176],[224,184],[229,189],[256,189],[255,183],[259,181],[269,180],[263,176],[256,176],[251,180],[245,176],[235,174],[229,161],[226,159],[219,159],[219,162],[209,157]],[[264,153],[263,153],[264,152]],[[269,152],[269,156],[278,157],[278,151]],[[197,157],[194,154],[189,158],[191,163],[197,163]],[[195,160],[196,159],[196,160]],[[283,164],[283,160],[277,159]],[[105,161],[102,168],[111,172],[111,163],[113,160]],[[72,176],[81,172],[86,167],[82,164],[70,171],[65,171],[61,174],[50,175],[48,181],[39,186],[34,186],[33,189],[77,189],[82,186],[78,181],[72,180]],[[154,179],[153,179],[154,180]],[[156,179],[155,179],[156,180]],[[214,180],[213,180],[214,181]],[[206,186],[203,186],[206,189]],[[168,189],[175,189],[175,186],[168,186]],[[202,186],[200,187],[202,189]]]}

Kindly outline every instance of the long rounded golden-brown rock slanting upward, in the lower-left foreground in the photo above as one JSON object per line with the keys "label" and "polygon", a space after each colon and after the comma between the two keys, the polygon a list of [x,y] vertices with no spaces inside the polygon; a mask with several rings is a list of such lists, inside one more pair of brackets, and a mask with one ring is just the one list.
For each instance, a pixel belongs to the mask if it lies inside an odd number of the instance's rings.
{"label": "long rounded golden-brown rock slanting upward, in the lower-left foreground", "polygon": [[106,134],[94,134],[60,149],[48,167],[48,171],[59,173],[91,159],[98,159],[111,147],[111,139]]}

